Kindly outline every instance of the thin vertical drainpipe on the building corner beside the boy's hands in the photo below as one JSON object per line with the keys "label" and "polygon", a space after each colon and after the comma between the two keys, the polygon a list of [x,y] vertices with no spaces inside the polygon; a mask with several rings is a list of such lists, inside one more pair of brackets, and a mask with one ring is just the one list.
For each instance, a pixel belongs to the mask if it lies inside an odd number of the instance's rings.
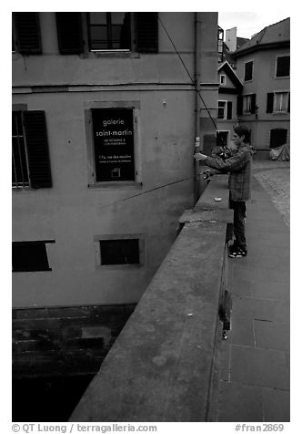
{"label": "thin vertical drainpipe on the building corner beside the boy's hands", "polygon": [[[195,152],[199,152],[200,148],[200,98],[198,96],[198,92],[200,90],[200,13],[195,13],[195,88],[196,88],[196,102],[195,102]],[[195,174],[195,182],[194,182],[194,198],[195,203],[198,201],[200,196],[200,187],[199,187],[199,161],[194,162],[194,174]]]}

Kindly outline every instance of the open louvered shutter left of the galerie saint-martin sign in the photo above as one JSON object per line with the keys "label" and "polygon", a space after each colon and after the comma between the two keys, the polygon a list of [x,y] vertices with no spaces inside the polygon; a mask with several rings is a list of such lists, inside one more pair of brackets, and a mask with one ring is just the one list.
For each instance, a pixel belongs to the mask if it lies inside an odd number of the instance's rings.
{"label": "open louvered shutter left of the galerie saint-martin sign", "polygon": [[26,150],[31,187],[52,187],[44,111],[24,111]]}

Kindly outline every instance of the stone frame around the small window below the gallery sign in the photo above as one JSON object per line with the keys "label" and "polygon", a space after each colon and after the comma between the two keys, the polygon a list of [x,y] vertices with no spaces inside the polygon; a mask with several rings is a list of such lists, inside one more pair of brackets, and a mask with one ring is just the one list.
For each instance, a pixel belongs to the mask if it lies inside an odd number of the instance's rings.
{"label": "stone frame around the small window below the gallery sign", "polygon": [[[138,257],[139,263],[112,263],[112,264],[102,264],[101,260],[101,242],[102,241],[116,241],[116,240],[138,240]],[[134,268],[141,268],[146,262],[146,248],[145,248],[145,234],[144,233],[122,233],[122,234],[103,234],[94,236],[94,248],[95,248],[95,258],[96,258],[96,269],[97,270],[128,270]]]}

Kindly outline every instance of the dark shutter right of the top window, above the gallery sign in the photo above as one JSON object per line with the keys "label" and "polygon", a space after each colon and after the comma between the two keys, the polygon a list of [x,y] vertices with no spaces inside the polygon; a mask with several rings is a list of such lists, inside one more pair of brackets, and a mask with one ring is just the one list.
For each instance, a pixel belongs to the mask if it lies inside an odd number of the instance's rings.
{"label": "dark shutter right of the top window, above the gallery sign", "polygon": [[157,12],[136,13],[136,50],[139,53],[158,52]]}

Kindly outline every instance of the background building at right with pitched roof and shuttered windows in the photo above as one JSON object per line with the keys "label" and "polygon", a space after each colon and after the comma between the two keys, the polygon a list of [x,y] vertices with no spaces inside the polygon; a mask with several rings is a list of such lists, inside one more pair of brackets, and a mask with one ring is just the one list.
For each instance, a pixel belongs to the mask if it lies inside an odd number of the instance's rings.
{"label": "background building at right with pitched roof and shuttered windows", "polygon": [[290,19],[265,27],[232,56],[243,83],[237,115],[251,129],[257,158],[290,144]]}

